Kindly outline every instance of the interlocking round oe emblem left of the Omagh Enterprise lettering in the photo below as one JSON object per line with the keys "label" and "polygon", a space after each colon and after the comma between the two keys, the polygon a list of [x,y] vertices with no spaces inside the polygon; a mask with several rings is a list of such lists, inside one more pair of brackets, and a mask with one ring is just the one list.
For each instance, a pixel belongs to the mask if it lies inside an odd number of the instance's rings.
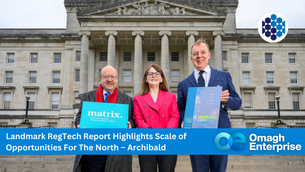
{"label": "interlocking round oe emblem left of the Omagh Enterprise lettering", "polygon": [[[222,146],[219,143],[219,140],[225,137],[226,139],[228,139],[228,144],[225,146]],[[239,138],[239,139],[236,139]],[[235,151],[240,151],[242,150],[245,146],[246,146],[246,137],[242,134],[242,133],[233,133],[233,134],[228,134],[228,133],[219,133],[217,134],[217,136],[215,137],[214,143],[217,149],[221,150],[221,151],[226,151],[230,148],[232,148]]]}

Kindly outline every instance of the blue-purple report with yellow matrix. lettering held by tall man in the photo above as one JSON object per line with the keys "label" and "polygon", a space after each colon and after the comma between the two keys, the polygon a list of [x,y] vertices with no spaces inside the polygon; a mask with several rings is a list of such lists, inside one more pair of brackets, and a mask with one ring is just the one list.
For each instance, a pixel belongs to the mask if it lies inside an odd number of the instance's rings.
{"label": "blue-purple report with yellow matrix. lettering held by tall man", "polygon": [[222,87],[190,87],[183,128],[217,128]]}

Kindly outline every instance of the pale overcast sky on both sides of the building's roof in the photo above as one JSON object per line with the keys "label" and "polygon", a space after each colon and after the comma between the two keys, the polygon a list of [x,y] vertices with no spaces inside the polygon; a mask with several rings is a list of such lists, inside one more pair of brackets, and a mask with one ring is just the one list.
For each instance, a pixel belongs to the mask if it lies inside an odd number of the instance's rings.
{"label": "pale overcast sky on both sides of the building's roof", "polygon": [[[0,28],[66,28],[64,0],[1,0]],[[282,14],[289,28],[305,28],[304,0],[239,0],[237,28],[257,28],[270,12]]]}

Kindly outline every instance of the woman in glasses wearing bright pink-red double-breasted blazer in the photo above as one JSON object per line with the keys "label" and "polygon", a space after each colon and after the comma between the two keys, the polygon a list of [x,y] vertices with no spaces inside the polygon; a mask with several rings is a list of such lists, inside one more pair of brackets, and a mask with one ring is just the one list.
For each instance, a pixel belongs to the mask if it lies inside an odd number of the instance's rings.
{"label": "woman in glasses wearing bright pink-red double-breasted blazer", "polygon": [[[168,92],[160,66],[146,68],[142,92],[134,97],[133,119],[138,128],[178,128],[179,112],[176,95]],[[177,155],[139,155],[141,172],[174,172]]]}

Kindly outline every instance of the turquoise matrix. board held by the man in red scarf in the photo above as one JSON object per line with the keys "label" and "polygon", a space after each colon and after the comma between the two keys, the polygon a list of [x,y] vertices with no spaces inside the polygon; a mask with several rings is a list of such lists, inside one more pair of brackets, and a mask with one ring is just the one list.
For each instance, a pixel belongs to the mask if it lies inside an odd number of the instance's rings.
{"label": "turquoise matrix. board held by the man in red scarf", "polygon": [[128,104],[83,102],[80,128],[127,128]]}

